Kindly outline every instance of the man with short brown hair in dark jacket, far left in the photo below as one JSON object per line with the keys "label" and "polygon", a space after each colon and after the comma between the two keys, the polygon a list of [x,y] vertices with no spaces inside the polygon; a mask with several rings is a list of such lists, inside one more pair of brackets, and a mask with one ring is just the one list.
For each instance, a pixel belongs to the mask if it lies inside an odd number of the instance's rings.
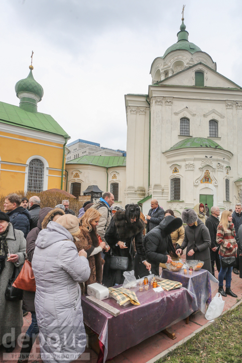
{"label": "man with short brown hair in dark jacket, far left", "polygon": [[26,209],[20,207],[21,199],[19,195],[12,193],[9,194],[5,202],[3,204],[4,211],[6,211],[10,223],[15,230],[22,231],[24,234],[24,238],[27,237],[29,233],[29,226],[30,226],[30,214]]}

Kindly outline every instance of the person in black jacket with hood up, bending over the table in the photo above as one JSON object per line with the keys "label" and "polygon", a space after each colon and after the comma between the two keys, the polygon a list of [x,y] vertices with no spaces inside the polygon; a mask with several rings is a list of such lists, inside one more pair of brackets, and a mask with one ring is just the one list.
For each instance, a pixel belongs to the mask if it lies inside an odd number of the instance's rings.
{"label": "person in black jacket with hood up, bending over the table", "polygon": [[[151,263],[151,272],[159,275],[159,264],[171,262],[171,256],[176,257],[176,251],[171,241],[170,234],[182,226],[182,220],[167,216],[160,224],[153,228],[144,238],[144,248],[147,261]],[[147,270],[135,258],[135,276],[143,277]]]}

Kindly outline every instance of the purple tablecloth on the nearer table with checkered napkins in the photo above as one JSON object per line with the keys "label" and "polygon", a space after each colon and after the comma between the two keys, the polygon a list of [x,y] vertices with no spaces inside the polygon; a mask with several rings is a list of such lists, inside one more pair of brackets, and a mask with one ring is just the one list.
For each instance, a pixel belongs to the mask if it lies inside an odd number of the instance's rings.
{"label": "purple tablecloth on the nearer table with checkered napkins", "polygon": [[185,319],[198,308],[194,295],[184,287],[158,293],[151,286],[148,291],[140,292],[138,287],[132,291],[140,302],[138,306],[122,307],[113,298],[104,300],[120,310],[117,317],[82,296],[84,323],[99,335],[105,346],[104,362]]}

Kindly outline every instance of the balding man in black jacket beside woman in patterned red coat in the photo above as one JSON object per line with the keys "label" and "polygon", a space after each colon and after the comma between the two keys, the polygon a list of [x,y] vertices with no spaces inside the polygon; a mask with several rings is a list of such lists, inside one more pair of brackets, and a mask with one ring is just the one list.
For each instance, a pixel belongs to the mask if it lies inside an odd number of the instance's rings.
{"label": "balding man in black jacket beside woman in patterned red coat", "polygon": [[209,234],[211,237],[211,247],[210,247],[210,258],[212,265],[212,274],[214,276],[214,264],[216,263],[216,267],[218,272],[221,269],[221,262],[219,257],[219,244],[216,242],[217,228],[219,225],[219,217],[220,209],[219,207],[211,208],[211,216],[206,221],[206,227],[209,230]]}

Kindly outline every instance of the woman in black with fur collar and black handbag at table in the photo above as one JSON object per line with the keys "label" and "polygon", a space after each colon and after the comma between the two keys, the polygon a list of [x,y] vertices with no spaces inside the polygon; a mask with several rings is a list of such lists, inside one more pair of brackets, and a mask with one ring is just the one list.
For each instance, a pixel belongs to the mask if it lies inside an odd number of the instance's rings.
{"label": "woman in black with fur collar and black handbag at table", "polygon": [[151,265],[146,261],[145,250],[142,240],[144,223],[140,220],[140,209],[137,204],[127,204],[125,211],[117,211],[112,218],[105,234],[105,240],[110,245],[110,251],[105,254],[105,264],[103,273],[103,284],[107,287],[122,284],[124,281],[121,269],[111,268],[113,256],[128,257],[128,267],[126,271],[134,269],[134,246],[137,256],[146,270],[146,274]]}

